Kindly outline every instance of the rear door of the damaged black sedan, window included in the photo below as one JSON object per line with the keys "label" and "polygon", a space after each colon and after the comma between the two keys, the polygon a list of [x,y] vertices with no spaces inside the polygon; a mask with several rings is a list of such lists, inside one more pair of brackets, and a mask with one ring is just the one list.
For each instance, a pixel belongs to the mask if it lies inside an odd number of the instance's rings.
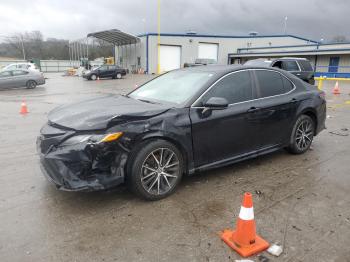
{"label": "rear door of the damaged black sedan, window included", "polygon": [[261,149],[275,147],[289,140],[298,106],[295,86],[282,73],[253,70],[257,86],[255,119],[260,123]]}

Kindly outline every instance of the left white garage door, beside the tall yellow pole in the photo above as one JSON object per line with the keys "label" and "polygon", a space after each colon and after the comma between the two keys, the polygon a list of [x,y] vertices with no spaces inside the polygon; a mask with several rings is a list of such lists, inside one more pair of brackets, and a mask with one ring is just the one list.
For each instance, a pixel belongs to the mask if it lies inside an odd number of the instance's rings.
{"label": "left white garage door, beside the tall yellow pole", "polygon": [[181,47],[161,45],[160,46],[160,71],[166,72],[181,67]]}

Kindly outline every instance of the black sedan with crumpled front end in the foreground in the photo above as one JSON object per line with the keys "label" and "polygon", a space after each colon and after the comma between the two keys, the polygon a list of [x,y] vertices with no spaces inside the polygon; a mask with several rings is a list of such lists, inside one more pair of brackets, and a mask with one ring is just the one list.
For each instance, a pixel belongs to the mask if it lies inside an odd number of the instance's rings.
{"label": "black sedan with crumpled front end in the foreground", "polygon": [[325,116],[324,93],[286,71],[193,67],[125,96],[58,107],[37,145],[43,173],[60,189],[126,182],[157,200],[173,193],[183,174],[281,148],[304,153]]}

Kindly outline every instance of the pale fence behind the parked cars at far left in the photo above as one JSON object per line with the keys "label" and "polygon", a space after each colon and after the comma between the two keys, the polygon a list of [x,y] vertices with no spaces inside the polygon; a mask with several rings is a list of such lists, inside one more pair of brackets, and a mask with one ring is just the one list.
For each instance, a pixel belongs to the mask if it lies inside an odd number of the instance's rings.
{"label": "pale fence behind the parked cars at far left", "polygon": [[[0,60],[0,69],[8,64],[23,63],[25,60]],[[40,60],[42,72],[63,72],[72,67],[80,66],[80,61],[70,60]]]}

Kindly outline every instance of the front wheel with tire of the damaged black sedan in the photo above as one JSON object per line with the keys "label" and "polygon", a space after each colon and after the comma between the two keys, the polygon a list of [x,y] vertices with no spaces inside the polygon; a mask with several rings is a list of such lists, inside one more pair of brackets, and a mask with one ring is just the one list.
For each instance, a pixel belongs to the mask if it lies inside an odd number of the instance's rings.
{"label": "front wheel with tire of the damaged black sedan", "polygon": [[138,148],[129,161],[129,188],[146,200],[159,200],[172,194],[183,174],[181,152],[164,140],[152,140]]}

